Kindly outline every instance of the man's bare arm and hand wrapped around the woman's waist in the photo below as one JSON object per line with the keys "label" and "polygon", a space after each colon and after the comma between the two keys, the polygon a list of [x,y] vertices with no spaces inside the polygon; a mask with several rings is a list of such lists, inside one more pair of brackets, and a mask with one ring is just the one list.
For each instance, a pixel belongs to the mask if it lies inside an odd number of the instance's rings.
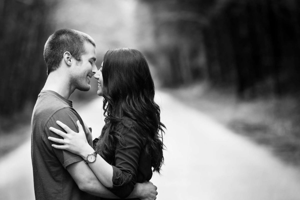
{"label": "man's bare arm and hand wrapped around the woman's waist", "polygon": [[[101,184],[94,172],[85,164],[84,160],[70,164],[66,169],[80,190],[102,198],[119,199]],[[157,187],[151,182],[137,183],[132,193],[128,196],[128,199],[153,200],[156,199],[156,195],[158,194],[156,190]]]}

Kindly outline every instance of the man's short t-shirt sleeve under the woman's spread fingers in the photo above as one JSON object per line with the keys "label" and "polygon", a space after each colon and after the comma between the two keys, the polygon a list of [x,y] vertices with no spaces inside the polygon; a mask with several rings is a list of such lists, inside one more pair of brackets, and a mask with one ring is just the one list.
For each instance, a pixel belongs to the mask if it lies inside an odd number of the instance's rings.
{"label": "man's short t-shirt sleeve under the woman's spread fingers", "polygon": [[50,119],[46,122],[45,127],[44,127],[45,134],[44,134],[43,140],[44,140],[47,148],[49,148],[56,155],[56,157],[58,158],[58,160],[60,161],[62,166],[64,166],[64,168],[66,168],[68,165],[79,162],[83,159],[79,155],[73,154],[66,150],[55,149],[51,146],[52,144],[57,144],[57,145],[61,145],[61,144],[48,140],[49,136],[60,138],[60,139],[63,139],[63,137],[50,131],[49,128],[53,127],[53,128],[57,128],[57,129],[65,132],[63,128],[61,128],[59,125],[56,124],[57,120],[61,121],[65,125],[67,125],[73,131],[79,132],[77,124],[76,124],[76,121],[79,120],[79,115],[75,111],[71,110],[70,108],[62,108],[62,109],[56,111],[50,117]]}

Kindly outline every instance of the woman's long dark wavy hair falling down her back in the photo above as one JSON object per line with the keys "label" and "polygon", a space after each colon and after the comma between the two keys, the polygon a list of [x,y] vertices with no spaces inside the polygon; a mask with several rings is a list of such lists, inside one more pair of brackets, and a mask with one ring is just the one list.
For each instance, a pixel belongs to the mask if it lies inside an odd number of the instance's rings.
{"label": "woman's long dark wavy hair falling down her back", "polygon": [[146,154],[151,158],[153,171],[159,173],[164,163],[166,127],[160,121],[160,108],[154,101],[155,87],[144,55],[136,49],[109,50],[104,55],[102,75],[106,124],[96,151],[112,163],[116,145],[124,142],[122,131],[133,128],[146,139]]}

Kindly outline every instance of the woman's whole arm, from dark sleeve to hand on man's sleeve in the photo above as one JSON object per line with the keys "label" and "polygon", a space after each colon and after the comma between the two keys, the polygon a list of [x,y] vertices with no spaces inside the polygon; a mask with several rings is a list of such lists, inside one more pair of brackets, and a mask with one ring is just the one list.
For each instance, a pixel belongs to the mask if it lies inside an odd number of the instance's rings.
{"label": "woman's whole arm, from dark sleeve to hand on man's sleeve", "polygon": [[[64,145],[52,145],[57,149],[68,150],[72,153],[80,155],[84,160],[88,154],[94,152],[94,149],[88,145],[86,138],[83,137],[83,128],[79,121],[77,122],[79,134],[72,131],[61,122],[57,122],[66,132],[50,128],[51,131],[62,136],[64,139],[49,137],[49,140],[64,143]],[[136,183],[136,174],[138,160],[142,143],[137,133],[128,131],[124,136],[124,146],[118,145],[115,154],[116,166],[108,164],[100,155],[97,155],[94,163],[89,163],[90,168],[103,185],[111,188],[111,191],[121,198],[128,196],[134,189]]]}

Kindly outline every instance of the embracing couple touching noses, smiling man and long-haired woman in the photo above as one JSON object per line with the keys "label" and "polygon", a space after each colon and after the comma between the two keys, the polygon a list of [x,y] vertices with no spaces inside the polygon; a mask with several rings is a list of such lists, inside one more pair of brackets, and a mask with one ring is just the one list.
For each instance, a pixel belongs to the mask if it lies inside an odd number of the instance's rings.
{"label": "embracing couple touching noses, smiling man and long-haired woman", "polygon": [[[56,31],[45,44],[48,78],[31,122],[35,198],[156,199],[149,180],[164,161],[165,126],[147,61],[135,49],[112,49],[98,70],[95,47],[72,29]],[[94,141],[69,100],[75,89],[90,89],[93,75],[105,116]]]}

